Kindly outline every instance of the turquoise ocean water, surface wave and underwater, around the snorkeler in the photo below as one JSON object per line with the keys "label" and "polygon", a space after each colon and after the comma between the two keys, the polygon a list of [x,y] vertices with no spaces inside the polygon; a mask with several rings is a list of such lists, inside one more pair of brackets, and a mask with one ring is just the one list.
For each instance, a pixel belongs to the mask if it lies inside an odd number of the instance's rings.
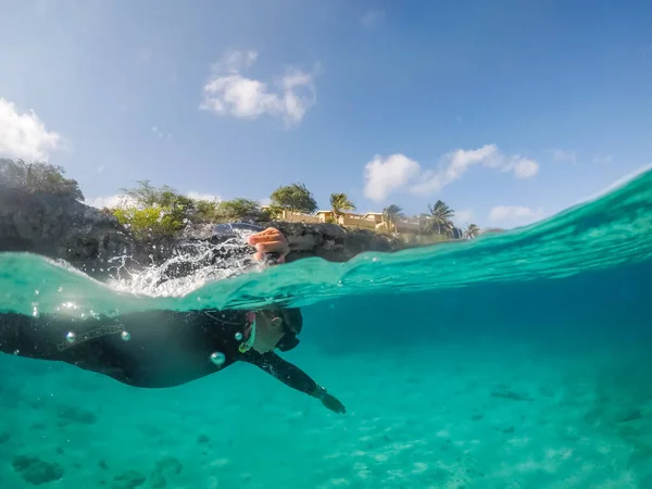
{"label": "turquoise ocean water, surface wave and underwater, around the snorkeler", "polygon": [[148,390],[2,355],[0,488],[652,488],[652,172],[472,241],[160,274],[1,253],[0,309],[301,306],[284,356],[348,413],[250,365]]}

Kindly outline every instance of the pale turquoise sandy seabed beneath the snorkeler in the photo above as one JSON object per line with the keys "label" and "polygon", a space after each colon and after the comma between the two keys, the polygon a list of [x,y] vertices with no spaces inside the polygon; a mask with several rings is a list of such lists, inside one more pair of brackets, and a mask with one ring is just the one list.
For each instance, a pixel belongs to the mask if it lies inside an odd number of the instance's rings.
{"label": "pale turquoise sandy seabed beneath the snorkeler", "polygon": [[139,390],[1,358],[0,487],[652,488],[652,369],[632,355],[302,346],[290,359],[348,414],[251,365]]}

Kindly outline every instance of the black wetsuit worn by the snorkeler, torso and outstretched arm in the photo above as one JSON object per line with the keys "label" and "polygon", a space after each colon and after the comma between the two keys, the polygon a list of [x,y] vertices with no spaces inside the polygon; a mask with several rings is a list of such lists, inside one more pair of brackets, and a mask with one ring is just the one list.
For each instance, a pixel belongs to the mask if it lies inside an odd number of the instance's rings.
{"label": "black wetsuit worn by the snorkeler, torso and outstretched arm", "polygon": [[246,325],[244,311],[147,311],[86,321],[0,313],[0,351],[66,362],[146,388],[178,386],[242,361],[312,394],[315,381],[276,353],[239,350]]}

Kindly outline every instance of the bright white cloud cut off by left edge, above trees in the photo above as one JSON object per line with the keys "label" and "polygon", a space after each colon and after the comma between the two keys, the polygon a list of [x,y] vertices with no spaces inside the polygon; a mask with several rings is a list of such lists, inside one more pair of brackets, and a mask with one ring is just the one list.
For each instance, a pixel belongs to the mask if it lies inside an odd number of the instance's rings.
{"label": "bright white cloud cut off by left edge, above trees", "polygon": [[50,151],[62,143],[61,135],[48,131],[34,111],[18,113],[0,98],[0,156],[48,161]]}

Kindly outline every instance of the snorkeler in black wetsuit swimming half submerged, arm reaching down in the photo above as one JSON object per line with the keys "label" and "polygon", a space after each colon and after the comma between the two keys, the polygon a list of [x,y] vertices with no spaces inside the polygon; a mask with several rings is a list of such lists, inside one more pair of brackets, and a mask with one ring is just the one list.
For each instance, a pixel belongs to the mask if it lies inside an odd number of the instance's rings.
{"label": "snorkeler in black wetsuit swimming half submerged, arm reaching down", "polygon": [[[267,228],[249,237],[255,260],[289,252],[286,237]],[[330,411],[343,404],[274,350],[297,347],[299,309],[259,311],[142,311],[96,319],[16,313],[0,314],[0,351],[61,361],[142,388],[186,384],[235,362],[253,364],[287,386],[310,394]]]}

